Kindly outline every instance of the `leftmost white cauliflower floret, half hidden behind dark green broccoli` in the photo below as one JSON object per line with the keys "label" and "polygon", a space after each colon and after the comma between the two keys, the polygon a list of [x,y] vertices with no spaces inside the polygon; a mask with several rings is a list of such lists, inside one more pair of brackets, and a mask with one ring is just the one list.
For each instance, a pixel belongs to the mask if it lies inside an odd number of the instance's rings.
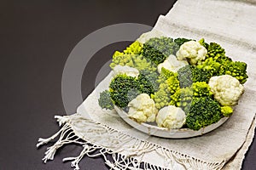
{"label": "leftmost white cauliflower floret, half hidden behind dark green broccoli", "polygon": [[119,74],[126,74],[128,77],[138,77],[140,72],[136,68],[132,68],[127,65],[116,65],[115,67],[113,67],[113,77]]}

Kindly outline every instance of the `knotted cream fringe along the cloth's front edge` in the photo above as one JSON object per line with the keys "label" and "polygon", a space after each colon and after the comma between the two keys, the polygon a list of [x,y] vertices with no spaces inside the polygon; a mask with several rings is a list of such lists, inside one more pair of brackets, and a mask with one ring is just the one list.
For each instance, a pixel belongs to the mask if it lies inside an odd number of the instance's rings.
{"label": "knotted cream fringe along the cloth's front edge", "polygon": [[[79,161],[84,156],[102,156],[106,165],[113,170],[168,170],[168,169],[195,169],[195,170],[219,170],[224,166],[223,162],[206,162],[190,156],[180,154],[173,150],[167,150],[156,144],[136,139],[121,133],[111,127],[84,118],[79,114],[72,116],[55,116],[60,131],[48,139],[38,139],[37,147],[49,143],[57,136],[60,138],[54,145],[47,148],[43,158],[44,163],[53,160],[56,150],[64,144],[81,144],[83,150],[77,157],[67,157],[63,161],[71,161],[71,167],[79,170]],[[146,154],[154,152],[156,156],[165,161],[165,165],[156,166],[154,162],[143,160]],[[112,156],[113,161],[108,160]],[[136,158],[135,158],[136,157]]]}

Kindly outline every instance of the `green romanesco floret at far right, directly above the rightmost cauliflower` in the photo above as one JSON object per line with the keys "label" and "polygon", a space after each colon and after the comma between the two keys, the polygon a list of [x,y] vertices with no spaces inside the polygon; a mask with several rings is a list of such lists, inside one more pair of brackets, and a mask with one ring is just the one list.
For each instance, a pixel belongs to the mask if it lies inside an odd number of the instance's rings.
{"label": "green romanesco floret at far right, directly above the rightmost cauliflower", "polygon": [[227,60],[221,65],[219,75],[230,75],[236,77],[241,83],[247,82],[247,64],[241,61],[230,61]]}

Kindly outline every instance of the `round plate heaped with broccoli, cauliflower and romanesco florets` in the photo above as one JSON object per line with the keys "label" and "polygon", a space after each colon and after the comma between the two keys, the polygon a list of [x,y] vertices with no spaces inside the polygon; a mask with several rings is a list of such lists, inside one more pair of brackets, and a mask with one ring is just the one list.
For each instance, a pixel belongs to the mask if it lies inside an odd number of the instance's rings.
{"label": "round plate heaped with broccoli, cauliflower and romanesco florets", "polygon": [[247,64],[216,42],[152,37],[113,54],[112,79],[98,99],[150,135],[189,138],[221,126],[244,92]]}

